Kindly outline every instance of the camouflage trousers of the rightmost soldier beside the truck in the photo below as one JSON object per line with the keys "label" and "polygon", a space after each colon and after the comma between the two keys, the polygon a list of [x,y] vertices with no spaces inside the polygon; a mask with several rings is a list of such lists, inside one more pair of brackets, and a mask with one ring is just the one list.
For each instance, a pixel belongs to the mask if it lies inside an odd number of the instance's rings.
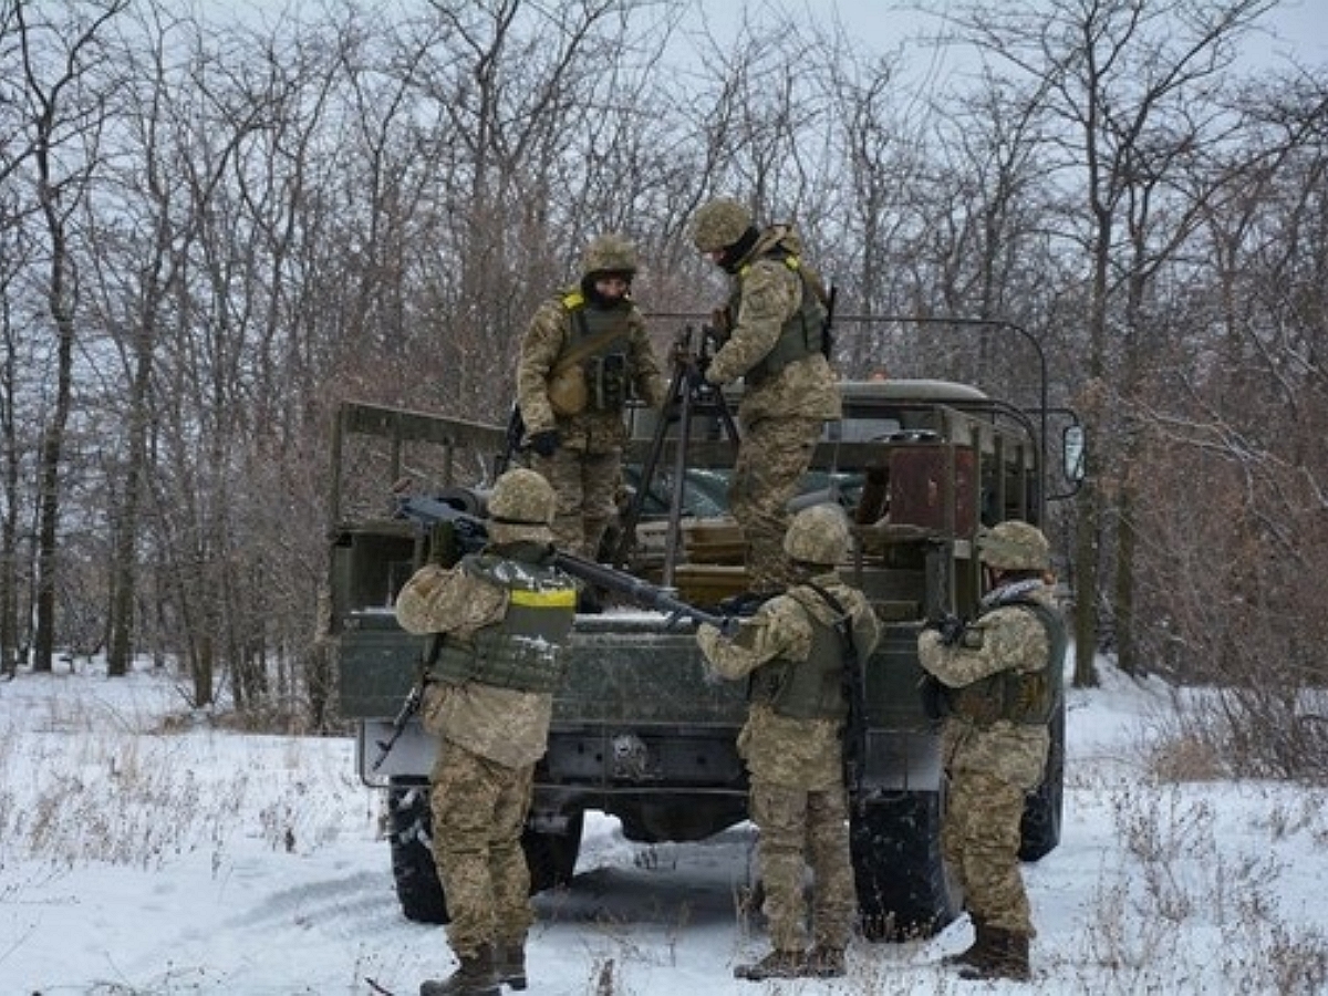
{"label": "camouflage trousers of the rightmost soldier beside the truck", "polygon": [[985,772],[956,772],[940,842],[968,911],[999,930],[1033,936],[1019,870],[1023,817],[1021,788]]}

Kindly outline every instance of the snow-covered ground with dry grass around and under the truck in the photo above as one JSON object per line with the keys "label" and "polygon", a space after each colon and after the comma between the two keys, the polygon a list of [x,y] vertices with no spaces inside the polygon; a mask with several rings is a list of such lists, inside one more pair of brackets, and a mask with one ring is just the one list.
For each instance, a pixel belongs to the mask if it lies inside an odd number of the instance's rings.
{"label": "snow-covered ground with dry grass around and under the truck", "polygon": [[[1169,692],[1100,667],[1070,692],[1061,846],[1025,866],[1035,987],[943,968],[963,920],[858,940],[843,980],[736,981],[765,951],[750,826],[644,846],[591,815],[574,884],[535,899],[529,992],[1324,992],[1324,791],[1158,784]],[[161,672],[82,663],[0,684],[0,992],[414,993],[452,971],[442,928],[398,911],[349,738],[227,732]]]}

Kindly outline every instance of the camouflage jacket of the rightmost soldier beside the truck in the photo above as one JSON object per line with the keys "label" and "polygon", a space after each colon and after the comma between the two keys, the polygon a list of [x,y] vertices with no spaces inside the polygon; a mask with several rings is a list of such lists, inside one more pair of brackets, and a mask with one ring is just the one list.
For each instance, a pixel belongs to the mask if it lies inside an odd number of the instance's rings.
{"label": "camouflage jacket of the rightmost soldier beside the truck", "polygon": [[[996,588],[987,596],[993,608],[975,619],[955,645],[944,645],[935,629],[924,629],[918,637],[923,668],[947,688],[963,688],[1003,671],[1031,673],[1062,665],[1049,660],[1050,637],[1037,615],[1017,604],[1001,606],[1001,594]],[[1045,584],[1023,596],[1054,606],[1052,590]],[[1042,778],[1050,744],[1045,725],[1008,720],[977,725],[963,716],[950,716],[943,737],[946,766],[951,772],[988,772],[1025,791],[1036,789]]]}

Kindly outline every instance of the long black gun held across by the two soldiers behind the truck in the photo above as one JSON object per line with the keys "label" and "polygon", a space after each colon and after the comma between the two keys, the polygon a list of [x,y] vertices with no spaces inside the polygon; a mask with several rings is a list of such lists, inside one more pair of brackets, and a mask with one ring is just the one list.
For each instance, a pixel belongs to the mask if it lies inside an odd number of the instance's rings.
{"label": "long black gun held across by the two soldiers behind the truck", "polygon": [[[478,552],[489,542],[489,530],[483,519],[438,498],[398,494],[397,517],[410,519],[430,531],[446,523],[462,554]],[[691,619],[697,625],[709,623],[725,636],[733,636],[741,625],[734,616],[705,612],[675,598],[665,588],[594,560],[558,551],[554,554],[554,566],[587,584],[616,591],[637,606],[663,612],[669,618],[669,624],[679,619]]]}

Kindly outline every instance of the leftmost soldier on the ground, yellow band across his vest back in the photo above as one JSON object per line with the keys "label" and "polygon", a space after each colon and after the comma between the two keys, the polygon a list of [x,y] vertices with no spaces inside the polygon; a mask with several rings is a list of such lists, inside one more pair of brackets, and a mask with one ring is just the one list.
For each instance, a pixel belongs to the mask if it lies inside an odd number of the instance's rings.
{"label": "leftmost soldier on the ground, yellow band across his vest back", "polygon": [[575,582],[551,563],[552,515],[547,481],[507,471],[489,498],[485,550],[452,570],[421,567],[397,598],[406,631],[440,635],[421,714],[438,737],[433,857],[461,963],[449,979],[425,981],[421,996],[526,988],[534,914],[521,834],[576,606]]}

